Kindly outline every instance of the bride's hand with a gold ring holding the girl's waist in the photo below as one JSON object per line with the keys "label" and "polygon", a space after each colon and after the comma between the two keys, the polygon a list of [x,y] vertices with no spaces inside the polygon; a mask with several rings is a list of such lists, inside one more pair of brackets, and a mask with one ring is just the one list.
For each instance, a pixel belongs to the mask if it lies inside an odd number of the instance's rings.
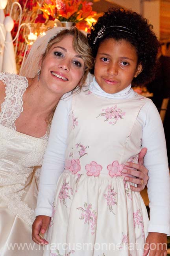
{"label": "bride's hand with a gold ring holding the girl's waist", "polygon": [[[147,148],[142,148],[142,150],[139,153],[139,164],[137,163],[126,163],[126,169],[123,170],[123,173],[130,174],[132,176],[135,176],[137,178],[131,178],[131,177],[125,177],[125,180],[135,183],[138,186],[134,187],[131,186],[131,191],[140,192],[144,189],[146,184],[148,183],[148,169],[146,169],[143,165],[143,159],[146,155]],[[125,167],[124,167],[125,168]]]}

